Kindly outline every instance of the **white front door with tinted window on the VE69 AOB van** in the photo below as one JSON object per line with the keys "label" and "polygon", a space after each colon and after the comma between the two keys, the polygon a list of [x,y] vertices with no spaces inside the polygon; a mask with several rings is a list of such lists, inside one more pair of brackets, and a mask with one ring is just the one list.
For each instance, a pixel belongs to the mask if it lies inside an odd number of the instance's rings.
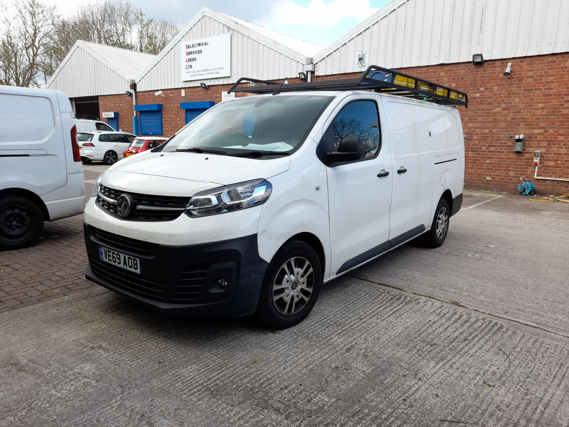
{"label": "white front door with tinted window on the VE69 AOB van", "polygon": [[324,127],[324,153],[347,136],[360,137],[364,145],[360,160],[327,165],[332,276],[389,249],[393,165],[389,144],[381,143],[384,121],[377,96],[357,95]]}

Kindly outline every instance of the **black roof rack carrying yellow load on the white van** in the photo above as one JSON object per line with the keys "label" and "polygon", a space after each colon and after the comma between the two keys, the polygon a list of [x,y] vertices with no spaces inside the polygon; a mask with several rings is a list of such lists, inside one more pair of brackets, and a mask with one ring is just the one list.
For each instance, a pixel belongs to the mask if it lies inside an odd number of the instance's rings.
{"label": "black roof rack carrying yellow load on the white van", "polygon": [[[263,86],[237,87],[244,81],[261,83]],[[284,83],[284,82],[283,82]],[[457,91],[432,81],[401,73],[394,69],[370,65],[361,77],[356,79],[336,79],[322,81],[304,81],[302,83],[282,84],[274,81],[250,79],[241,77],[227,91],[249,93],[281,93],[300,91],[367,91],[389,93],[407,98],[435,102],[441,105],[464,105],[468,107],[468,96],[464,92]]]}

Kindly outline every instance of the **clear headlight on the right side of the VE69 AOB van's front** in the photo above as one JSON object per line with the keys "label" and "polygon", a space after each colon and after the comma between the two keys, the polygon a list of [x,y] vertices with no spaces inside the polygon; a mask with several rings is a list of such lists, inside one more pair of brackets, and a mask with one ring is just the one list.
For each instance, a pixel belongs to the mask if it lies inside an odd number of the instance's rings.
{"label": "clear headlight on the right side of the VE69 AOB van's front", "polygon": [[265,203],[272,190],[273,186],[265,179],[213,188],[195,194],[184,212],[193,217],[238,211]]}

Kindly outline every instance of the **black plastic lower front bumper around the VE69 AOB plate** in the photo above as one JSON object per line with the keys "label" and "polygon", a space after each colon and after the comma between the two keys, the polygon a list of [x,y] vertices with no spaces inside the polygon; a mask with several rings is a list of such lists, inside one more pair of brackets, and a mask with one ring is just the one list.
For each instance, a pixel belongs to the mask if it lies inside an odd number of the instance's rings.
{"label": "black plastic lower front bumper around the VE69 AOB plate", "polygon": [[[85,277],[152,309],[196,317],[240,317],[257,307],[268,263],[257,235],[185,246],[134,240],[84,224]],[[99,256],[99,246],[137,257],[140,273]]]}

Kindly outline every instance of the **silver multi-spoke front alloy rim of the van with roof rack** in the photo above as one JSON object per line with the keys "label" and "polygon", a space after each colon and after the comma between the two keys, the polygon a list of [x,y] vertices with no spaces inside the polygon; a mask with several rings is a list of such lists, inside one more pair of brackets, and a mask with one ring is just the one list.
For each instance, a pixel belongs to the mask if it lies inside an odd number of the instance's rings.
{"label": "silver multi-spoke front alloy rim of the van with roof rack", "polygon": [[285,316],[298,313],[306,306],[314,289],[314,270],[306,258],[286,261],[273,283],[273,303]]}

